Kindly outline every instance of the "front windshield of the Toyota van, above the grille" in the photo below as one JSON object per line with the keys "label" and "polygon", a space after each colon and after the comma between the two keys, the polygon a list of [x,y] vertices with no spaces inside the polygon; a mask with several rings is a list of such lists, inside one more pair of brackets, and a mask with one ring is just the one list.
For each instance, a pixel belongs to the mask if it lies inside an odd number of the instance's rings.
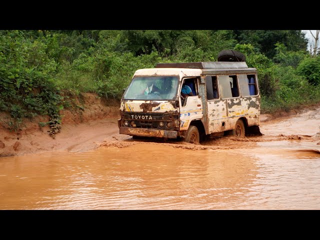
{"label": "front windshield of the Toyota van, above the grille", "polygon": [[134,77],[126,89],[124,99],[170,100],[176,95],[177,76]]}

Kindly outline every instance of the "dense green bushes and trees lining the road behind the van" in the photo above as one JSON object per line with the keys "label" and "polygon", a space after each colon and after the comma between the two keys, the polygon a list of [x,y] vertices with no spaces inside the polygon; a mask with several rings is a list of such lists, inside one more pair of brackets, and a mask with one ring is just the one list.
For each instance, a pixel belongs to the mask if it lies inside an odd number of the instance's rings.
{"label": "dense green bushes and trees lining the road behind the van", "polygon": [[320,100],[320,56],[306,46],[301,30],[1,30],[0,111],[12,130],[23,117],[49,115],[42,125],[54,137],[70,96],[119,99],[136,69],[214,61],[223,49],[258,69],[262,112],[288,110]]}

